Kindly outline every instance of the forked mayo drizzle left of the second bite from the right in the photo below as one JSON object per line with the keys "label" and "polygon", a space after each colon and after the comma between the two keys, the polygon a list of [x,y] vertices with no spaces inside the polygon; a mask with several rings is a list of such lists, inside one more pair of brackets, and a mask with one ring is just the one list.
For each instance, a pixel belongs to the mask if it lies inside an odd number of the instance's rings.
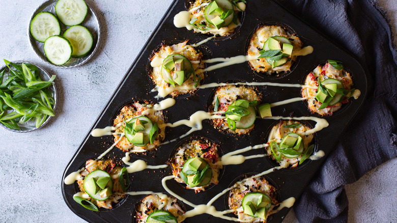
{"label": "forked mayo drizzle left of the second bite from the right", "polygon": [[239,149],[230,153],[226,153],[222,157],[220,157],[219,161],[216,162],[216,165],[237,165],[243,163],[247,159],[253,159],[253,158],[258,158],[258,157],[264,157],[266,156],[265,154],[259,154],[259,155],[252,155],[252,156],[243,156],[243,155],[237,155],[252,149],[260,149],[267,147],[268,145],[265,144],[259,144],[256,146],[248,146],[243,149]]}

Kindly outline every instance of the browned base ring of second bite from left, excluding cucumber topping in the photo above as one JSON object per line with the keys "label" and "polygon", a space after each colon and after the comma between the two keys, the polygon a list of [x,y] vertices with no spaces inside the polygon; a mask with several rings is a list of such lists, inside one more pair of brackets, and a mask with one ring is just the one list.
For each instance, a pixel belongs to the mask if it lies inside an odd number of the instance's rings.
{"label": "browned base ring of second bite from left, excluding cucumber topping", "polygon": [[[162,111],[155,111],[151,109],[153,107],[152,104],[140,104],[138,102],[133,103],[132,105],[126,105],[120,111],[120,114],[116,117],[114,121],[115,133],[115,142],[116,147],[123,151],[134,150],[135,152],[145,152],[147,150],[153,150],[157,148],[161,141],[165,138],[165,124],[164,124],[164,116]],[[148,144],[144,147],[137,147],[130,143],[126,137],[123,137],[122,133],[124,133],[124,127],[121,125],[123,121],[130,120],[136,116],[146,115],[153,123],[157,122],[159,127],[159,133],[156,137],[156,140],[153,144]]]}

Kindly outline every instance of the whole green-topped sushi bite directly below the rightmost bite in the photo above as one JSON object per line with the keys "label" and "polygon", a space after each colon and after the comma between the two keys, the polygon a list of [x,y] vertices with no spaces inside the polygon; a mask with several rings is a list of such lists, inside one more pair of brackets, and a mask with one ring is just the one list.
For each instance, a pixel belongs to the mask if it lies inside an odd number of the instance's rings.
{"label": "whole green-topped sushi bite directly below the rightmost bite", "polygon": [[281,168],[301,164],[313,153],[313,134],[306,135],[310,127],[294,120],[280,120],[270,130],[267,155],[276,160]]}

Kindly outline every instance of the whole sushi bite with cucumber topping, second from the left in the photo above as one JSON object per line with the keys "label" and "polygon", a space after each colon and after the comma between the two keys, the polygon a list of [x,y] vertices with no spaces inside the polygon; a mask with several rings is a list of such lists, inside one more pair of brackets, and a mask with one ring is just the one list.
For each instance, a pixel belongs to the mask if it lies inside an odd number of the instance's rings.
{"label": "whole sushi bite with cucumber topping, second from the left", "polygon": [[154,110],[149,102],[135,101],[124,106],[113,126],[117,128],[114,133],[116,147],[124,152],[156,149],[165,137],[163,112]]}

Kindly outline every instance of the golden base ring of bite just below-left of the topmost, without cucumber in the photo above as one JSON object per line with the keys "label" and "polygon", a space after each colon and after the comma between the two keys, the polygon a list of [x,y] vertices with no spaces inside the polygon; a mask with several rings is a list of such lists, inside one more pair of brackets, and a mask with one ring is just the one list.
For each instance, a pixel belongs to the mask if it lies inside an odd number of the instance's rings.
{"label": "golden base ring of bite just below-left of the topmost, without cucumber", "polygon": [[[163,45],[158,51],[154,53],[154,56],[151,59],[150,66],[153,67],[152,72],[149,74],[150,78],[152,78],[153,82],[155,83],[156,87],[159,88],[168,88],[170,85],[169,83],[163,80],[161,75],[161,65],[163,60],[171,54],[181,54],[184,55],[192,64],[192,67],[195,72],[195,79],[201,78],[201,81],[204,80],[204,73],[202,69],[204,68],[204,62],[201,61],[203,57],[203,53],[197,51],[191,45],[187,45],[188,41],[183,43],[174,44],[172,46]],[[182,87],[191,87],[191,90],[176,90],[171,92],[173,97],[192,93],[194,91],[194,77],[190,75],[190,77],[182,83]]]}

